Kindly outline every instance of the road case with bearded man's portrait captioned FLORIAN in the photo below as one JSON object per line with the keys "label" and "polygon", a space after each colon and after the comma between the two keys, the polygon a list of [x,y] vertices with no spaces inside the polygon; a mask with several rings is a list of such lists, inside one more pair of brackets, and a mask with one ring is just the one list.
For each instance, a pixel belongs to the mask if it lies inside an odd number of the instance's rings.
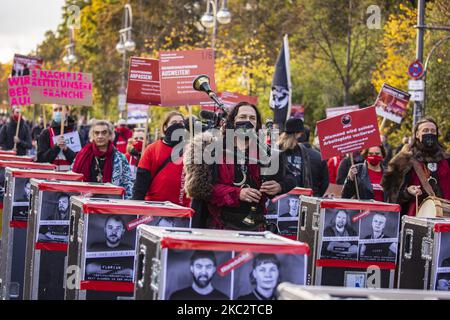
{"label": "road case with bearded man's portrait captioned FLORIAN", "polygon": [[136,228],[190,228],[193,214],[168,201],[73,197],[65,299],[132,297]]}

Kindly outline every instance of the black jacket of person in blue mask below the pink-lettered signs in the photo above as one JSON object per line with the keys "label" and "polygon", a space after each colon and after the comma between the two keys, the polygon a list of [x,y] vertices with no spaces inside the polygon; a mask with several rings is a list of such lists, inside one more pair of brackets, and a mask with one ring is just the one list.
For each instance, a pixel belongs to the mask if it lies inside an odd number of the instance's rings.
{"label": "black jacket of person in blue mask below the pink-lettered signs", "polygon": [[[55,132],[55,135],[59,135],[61,132],[61,124],[52,121],[51,127]],[[69,117],[68,126],[64,127],[65,132],[73,131],[75,127],[74,120]],[[56,157],[58,156],[61,149],[57,145],[54,145],[53,148],[50,145],[50,132],[49,129],[42,130],[39,135],[38,146],[37,146],[37,162],[48,162],[52,163]],[[76,153],[67,148],[66,151],[63,151],[66,160],[70,163],[73,163],[75,159]]]}

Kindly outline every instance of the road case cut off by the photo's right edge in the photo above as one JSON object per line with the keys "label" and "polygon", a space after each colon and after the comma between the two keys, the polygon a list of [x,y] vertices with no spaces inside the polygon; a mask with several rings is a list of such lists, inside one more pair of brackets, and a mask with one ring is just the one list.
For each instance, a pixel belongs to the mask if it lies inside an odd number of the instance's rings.
{"label": "road case cut off by the photo's right edge", "polygon": [[402,218],[398,287],[450,290],[450,219]]}

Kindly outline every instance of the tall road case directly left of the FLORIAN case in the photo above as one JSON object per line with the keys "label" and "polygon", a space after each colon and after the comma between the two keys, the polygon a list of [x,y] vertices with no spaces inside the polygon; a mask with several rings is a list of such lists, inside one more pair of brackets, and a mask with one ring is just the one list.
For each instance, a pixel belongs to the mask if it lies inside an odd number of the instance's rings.
{"label": "tall road case directly left of the FLORIAN case", "polygon": [[71,196],[122,199],[125,190],[111,183],[31,179],[25,300],[64,299],[65,259]]}

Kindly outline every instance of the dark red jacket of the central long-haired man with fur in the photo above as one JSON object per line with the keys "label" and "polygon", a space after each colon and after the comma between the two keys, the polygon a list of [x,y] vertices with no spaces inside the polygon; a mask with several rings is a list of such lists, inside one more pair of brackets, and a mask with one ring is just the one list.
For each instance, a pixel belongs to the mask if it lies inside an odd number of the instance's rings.
{"label": "dark red jacket of the central long-haired man with fur", "polygon": [[[256,164],[248,165],[248,173],[253,181],[256,182],[257,189],[261,187],[260,170]],[[239,194],[241,192],[240,187],[233,185],[234,181],[234,164],[219,164],[218,165],[218,177],[216,183],[213,185],[213,191],[211,199],[208,203],[208,210],[211,216],[211,222],[209,228],[211,229],[223,229],[223,223],[220,219],[221,207],[239,207],[240,200]],[[263,195],[260,204],[263,205],[266,202],[266,197]],[[266,212],[264,212],[266,214]]]}

